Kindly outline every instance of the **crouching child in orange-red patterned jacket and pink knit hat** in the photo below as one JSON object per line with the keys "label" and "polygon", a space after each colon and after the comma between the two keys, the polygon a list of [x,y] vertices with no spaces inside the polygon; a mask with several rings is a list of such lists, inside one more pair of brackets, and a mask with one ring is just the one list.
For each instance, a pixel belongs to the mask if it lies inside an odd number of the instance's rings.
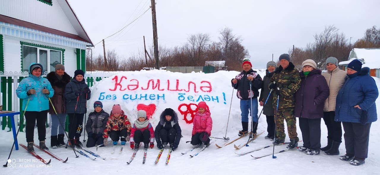
{"label": "crouching child in orange-red patterned jacket and pink knit hat", "polygon": [[129,141],[130,132],[131,123],[127,115],[121,110],[119,104],[114,104],[111,110],[111,116],[109,116],[107,121],[106,129],[104,130],[104,145],[107,145],[108,136],[111,137],[113,145],[117,145],[120,137],[121,145],[125,145],[125,143]]}

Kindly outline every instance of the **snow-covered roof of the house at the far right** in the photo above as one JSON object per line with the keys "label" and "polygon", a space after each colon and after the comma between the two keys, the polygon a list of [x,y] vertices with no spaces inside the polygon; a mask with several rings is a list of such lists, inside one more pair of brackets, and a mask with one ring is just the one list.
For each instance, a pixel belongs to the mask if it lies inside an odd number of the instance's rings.
{"label": "snow-covered roof of the house at the far right", "polygon": [[370,69],[380,68],[380,48],[354,48],[350,52],[350,60],[342,61],[339,65],[346,65],[353,59],[363,59],[363,67],[369,67]]}

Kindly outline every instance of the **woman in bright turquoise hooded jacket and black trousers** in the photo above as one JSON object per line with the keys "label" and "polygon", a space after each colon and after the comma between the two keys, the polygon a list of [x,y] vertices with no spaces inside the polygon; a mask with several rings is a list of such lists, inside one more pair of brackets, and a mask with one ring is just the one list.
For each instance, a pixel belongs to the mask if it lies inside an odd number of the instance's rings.
{"label": "woman in bright turquoise hooded jacket and black trousers", "polygon": [[[21,80],[16,89],[17,97],[23,99],[22,110],[25,111],[26,120],[26,141],[28,151],[34,151],[34,126],[37,121],[38,140],[40,148],[49,150],[45,145],[46,139],[46,118],[49,110],[49,98],[54,95],[54,89],[50,82],[43,78],[43,67],[39,63],[31,63],[29,66],[29,77]],[[26,109],[25,109],[26,108]]]}

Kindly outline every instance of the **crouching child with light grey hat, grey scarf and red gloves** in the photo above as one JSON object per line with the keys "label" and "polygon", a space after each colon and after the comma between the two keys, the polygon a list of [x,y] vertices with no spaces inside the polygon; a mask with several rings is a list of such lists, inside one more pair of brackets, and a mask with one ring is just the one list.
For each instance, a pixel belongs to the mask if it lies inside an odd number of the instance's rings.
{"label": "crouching child with light grey hat, grey scarf and red gloves", "polygon": [[149,142],[149,147],[154,148],[154,131],[152,124],[146,118],[145,110],[137,112],[137,120],[131,129],[131,148],[138,149],[140,142],[144,142],[144,149],[148,148]]}

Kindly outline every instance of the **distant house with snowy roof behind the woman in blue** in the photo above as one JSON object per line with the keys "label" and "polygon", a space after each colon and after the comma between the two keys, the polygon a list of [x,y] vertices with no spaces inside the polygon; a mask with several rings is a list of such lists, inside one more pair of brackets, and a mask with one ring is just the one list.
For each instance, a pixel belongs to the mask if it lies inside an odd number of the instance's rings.
{"label": "distant house with snowy roof behind the woman in blue", "polygon": [[380,48],[353,48],[348,61],[340,62],[339,66],[342,66],[345,71],[348,63],[353,59],[361,60],[363,63],[362,67],[369,67],[370,76],[380,78]]}

